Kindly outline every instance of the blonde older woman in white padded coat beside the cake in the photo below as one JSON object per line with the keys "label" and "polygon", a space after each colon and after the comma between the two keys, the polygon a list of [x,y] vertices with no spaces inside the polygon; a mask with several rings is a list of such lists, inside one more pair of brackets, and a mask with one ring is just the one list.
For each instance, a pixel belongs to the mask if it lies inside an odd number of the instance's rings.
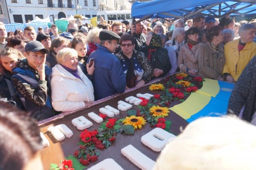
{"label": "blonde older woman in white padded coat beside the cake", "polygon": [[[65,112],[92,105],[93,85],[78,66],[76,50],[62,49],[56,59],[59,64],[52,68],[52,107]],[[94,66],[90,68],[88,72],[93,73]]]}

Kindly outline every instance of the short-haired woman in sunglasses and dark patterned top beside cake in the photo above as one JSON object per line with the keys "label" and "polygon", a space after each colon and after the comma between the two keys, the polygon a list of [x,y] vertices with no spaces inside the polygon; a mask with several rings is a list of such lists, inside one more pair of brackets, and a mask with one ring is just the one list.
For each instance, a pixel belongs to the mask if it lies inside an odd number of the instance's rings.
{"label": "short-haired woman in sunglasses and dark patterned top beside cake", "polygon": [[122,64],[127,89],[141,87],[153,76],[153,67],[143,52],[134,49],[135,40],[129,34],[124,34],[119,40],[122,50],[116,53]]}

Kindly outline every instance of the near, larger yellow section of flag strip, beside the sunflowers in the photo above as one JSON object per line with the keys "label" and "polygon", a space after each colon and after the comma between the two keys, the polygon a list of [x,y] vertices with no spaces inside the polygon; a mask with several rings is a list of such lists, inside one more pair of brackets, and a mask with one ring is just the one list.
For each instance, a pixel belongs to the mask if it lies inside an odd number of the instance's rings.
{"label": "near, larger yellow section of flag strip, beside the sunflowers", "polygon": [[173,112],[179,114],[180,117],[187,120],[193,114],[204,109],[205,105],[209,104],[211,100],[210,95],[205,95],[204,93],[195,92],[192,93],[187,100],[182,102],[181,104],[175,105],[170,108]]}

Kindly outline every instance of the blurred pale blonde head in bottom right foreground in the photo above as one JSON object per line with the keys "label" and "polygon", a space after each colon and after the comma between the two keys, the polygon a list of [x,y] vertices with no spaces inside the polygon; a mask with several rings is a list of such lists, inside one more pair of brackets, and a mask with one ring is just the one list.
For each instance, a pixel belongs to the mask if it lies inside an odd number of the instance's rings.
{"label": "blurred pale blonde head in bottom right foreground", "polygon": [[154,170],[255,169],[256,127],[236,117],[205,117],[189,123],[166,144]]}

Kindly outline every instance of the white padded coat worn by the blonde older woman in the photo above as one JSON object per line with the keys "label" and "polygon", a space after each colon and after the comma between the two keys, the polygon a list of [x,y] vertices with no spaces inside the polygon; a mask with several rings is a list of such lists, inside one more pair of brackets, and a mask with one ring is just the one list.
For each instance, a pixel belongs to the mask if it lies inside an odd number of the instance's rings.
{"label": "white padded coat worn by the blonde older woman", "polygon": [[85,107],[84,102],[93,102],[92,82],[78,69],[78,79],[61,65],[52,68],[52,107],[56,111],[74,111]]}

